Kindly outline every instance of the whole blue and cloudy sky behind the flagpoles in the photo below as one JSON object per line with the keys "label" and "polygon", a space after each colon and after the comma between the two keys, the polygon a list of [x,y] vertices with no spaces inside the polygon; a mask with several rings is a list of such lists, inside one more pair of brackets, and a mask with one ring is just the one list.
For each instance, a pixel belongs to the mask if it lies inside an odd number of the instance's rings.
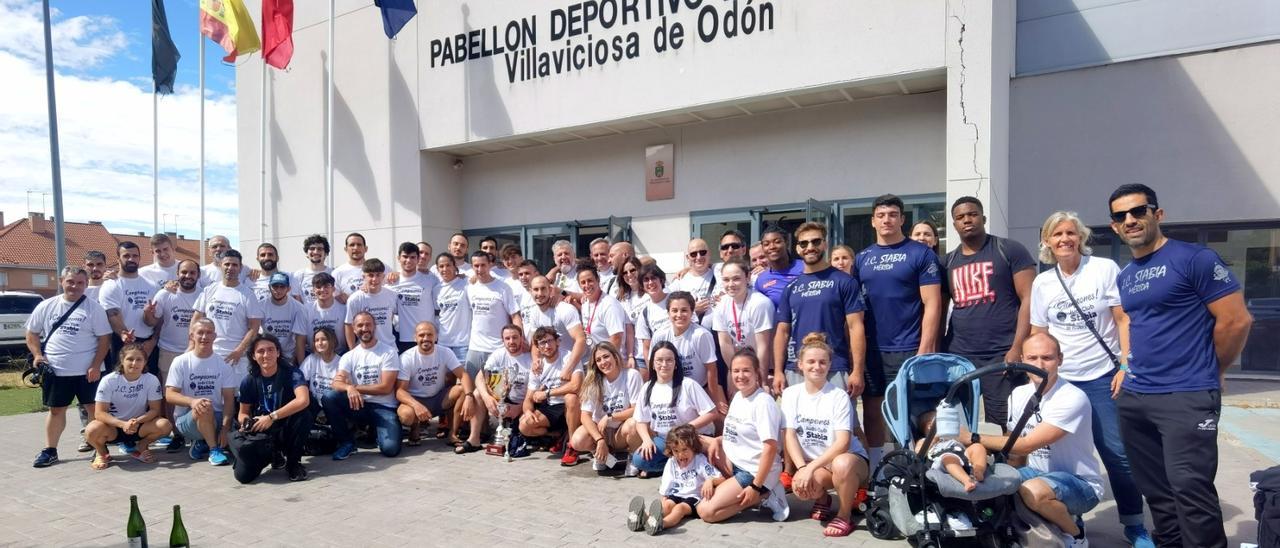
{"label": "whole blue and cloudy sky behind the flagpoles", "polygon": [[[150,234],[151,3],[51,0],[50,8],[65,219]],[[198,238],[198,0],[165,0],[165,9],[182,59],[174,93],[159,101],[160,228]],[[42,20],[38,0],[0,0],[5,223],[27,211],[54,215]],[[205,230],[236,246],[236,72],[216,44],[206,42],[205,54]]]}

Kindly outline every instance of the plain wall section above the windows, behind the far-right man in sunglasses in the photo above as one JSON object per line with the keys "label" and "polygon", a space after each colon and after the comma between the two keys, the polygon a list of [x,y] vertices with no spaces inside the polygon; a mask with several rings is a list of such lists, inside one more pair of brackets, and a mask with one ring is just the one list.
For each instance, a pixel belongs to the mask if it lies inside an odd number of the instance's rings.
{"label": "plain wall section above the windows, behind the far-right man in sunglasses", "polygon": [[1167,223],[1280,218],[1280,44],[1018,78],[1009,150],[1012,236],[1053,209],[1107,223],[1123,183]]}

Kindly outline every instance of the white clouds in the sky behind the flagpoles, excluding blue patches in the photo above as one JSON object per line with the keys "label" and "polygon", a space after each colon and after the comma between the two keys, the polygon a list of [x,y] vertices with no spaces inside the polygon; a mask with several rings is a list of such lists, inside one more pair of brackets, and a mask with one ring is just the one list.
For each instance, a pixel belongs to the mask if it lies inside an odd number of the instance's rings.
{"label": "white clouds in the sky behind the flagpoles, excluding blue patches", "polygon": [[[40,5],[0,0],[0,20],[5,20],[0,74],[6,90],[0,101],[0,210],[13,220],[27,211],[26,191],[51,189]],[[113,232],[150,232],[150,78],[111,79],[64,69],[125,54],[124,36],[109,18],[60,20],[54,41],[64,216],[100,220]],[[198,109],[200,95],[192,87],[179,86],[174,95],[160,97],[160,213],[169,215],[170,228],[178,215],[178,228],[192,238],[200,236]],[[205,122],[206,230],[234,242],[239,207],[234,96],[207,95]],[[38,207],[33,200],[32,209]],[[52,214],[51,200],[46,213]]]}

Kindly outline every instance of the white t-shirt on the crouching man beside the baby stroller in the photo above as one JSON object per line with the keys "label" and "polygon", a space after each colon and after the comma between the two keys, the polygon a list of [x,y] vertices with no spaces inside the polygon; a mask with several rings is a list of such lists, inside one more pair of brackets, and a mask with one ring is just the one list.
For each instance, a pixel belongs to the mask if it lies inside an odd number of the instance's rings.
{"label": "white t-shirt on the crouching man beside the baby stroller", "polygon": [[[1010,430],[1023,416],[1023,410],[1034,393],[1036,385],[1028,383],[1014,388],[1009,396],[1006,426]],[[1057,426],[1066,431],[1066,435],[1028,455],[1027,466],[1042,472],[1074,474],[1088,483],[1098,498],[1102,498],[1102,474],[1098,460],[1093,456],[1093,407],[1089,406],[1089,397],[1084,391],[1062,379],[1055,382],[1053,387],[1041,397],[1039,411],[1027,420],[1021,435],[1024,438],[1030,435],[1041,423]]]}

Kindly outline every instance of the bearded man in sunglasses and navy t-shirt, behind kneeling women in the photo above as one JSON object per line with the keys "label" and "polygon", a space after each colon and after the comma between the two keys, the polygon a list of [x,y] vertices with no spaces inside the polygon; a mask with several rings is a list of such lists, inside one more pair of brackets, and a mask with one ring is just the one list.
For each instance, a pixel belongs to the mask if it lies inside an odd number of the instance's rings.
{"label": "bearded man in sunglasses and navy t-shirt, behind kneeling women", "polygon": [[773,389],[778,394],[787,385],[804,383],[804,375],[796,370],[796,356],[800,342],[813,332],[824,333],[831,344],[827,380],[845,388],[850,397],[858,397],[865,387],[861,291],[854,277],[827,262],[826,238],[827,227],[820,223],[805,223],[796,229],[796,252],[804,260],[804,274],[791,280],[778,306],[773,335]]}

